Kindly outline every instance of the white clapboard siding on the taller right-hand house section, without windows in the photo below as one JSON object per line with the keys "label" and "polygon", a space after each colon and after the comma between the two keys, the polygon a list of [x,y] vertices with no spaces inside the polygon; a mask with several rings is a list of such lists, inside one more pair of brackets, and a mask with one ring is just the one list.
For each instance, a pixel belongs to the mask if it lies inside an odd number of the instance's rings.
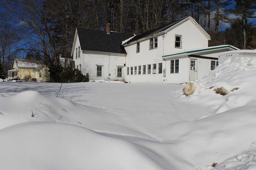
{"label": "white clapboard siding on the taller right-hand house section, without windows", "polygon": [[[175,35],[182,36],[182,48],[175,48]],[[153,36],[154,37],[154,36]],[[126,70],[129,67],[129,75],[126,75],[126,82],[158,82],[180,84],[189,80],[189,59],[180,58],[179,73],[170,74],[170,60],[163,61],[162,56],[171,53],[183,52],[188,49],[208,47],[208,38],[194,25],[191,20],[170,27],[165,32],[158,34],[158,48],[149,50],[150,38],[140,41],[140,53],[136,53],[137,42],[125,47],[127,52]],[[139,42],[139,41],[138,41]],[[131,75],[130,67],[147,64],[157,64],[156,74]],[[163,73],[158,74],[158,63],[162,63],[162,69],[166,68],[166,77]],[[152,65],[151,65],[152,67]],[[204,69],[202,74],[205,75]],[[127,72],[126,72],[127,74]],[[138,73],[137,73],[138,74]],[[201,74],[199,75],[201,76]]]}

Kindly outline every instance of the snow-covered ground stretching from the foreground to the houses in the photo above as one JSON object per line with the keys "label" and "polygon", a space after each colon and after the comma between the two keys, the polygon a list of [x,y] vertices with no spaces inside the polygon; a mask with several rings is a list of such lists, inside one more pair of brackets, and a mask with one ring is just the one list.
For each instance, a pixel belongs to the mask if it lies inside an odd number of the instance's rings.
{"label": "snow-covered ground stretching from the foreground to the houses", "polygon": [[256,170],[256,58],[192,83],[0,82],[0,169]]}

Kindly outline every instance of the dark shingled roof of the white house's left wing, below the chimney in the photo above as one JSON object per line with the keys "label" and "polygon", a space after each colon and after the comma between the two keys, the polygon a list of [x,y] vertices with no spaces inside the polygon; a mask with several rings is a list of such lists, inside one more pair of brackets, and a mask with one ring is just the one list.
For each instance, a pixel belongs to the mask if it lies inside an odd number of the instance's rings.
{"label": "dark shingled roof of the white house's left wing, below the chimney", "polygon": [[109,53],[126,54],[122,41],[130,38],[133,34],[77,28],[78,37],[82,50],[102,51]]}

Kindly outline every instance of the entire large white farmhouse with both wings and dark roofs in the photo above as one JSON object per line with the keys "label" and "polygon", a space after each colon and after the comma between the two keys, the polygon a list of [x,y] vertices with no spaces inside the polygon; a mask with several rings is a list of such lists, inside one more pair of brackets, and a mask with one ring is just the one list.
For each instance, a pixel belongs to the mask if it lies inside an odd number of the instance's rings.
{"label": "entire large white farmhouse with both wings and dark roofs", "polygon": [[[238,50],[231,45],[208,47],[210,35],[190,16],[135,36],[112,33],[123,39],[115,44],[104,31],[77,29],[72,55],[90,79],[180,84],[202,78],[218,66],[218,56]],[[120,41],[120,40],[119,40]],[[109,52],[118,49],[118,53]],[[85,46],[84,46],[85,45]],[[117,55],[118,54],[118,55]],[[118,69],[121,74],[118,76]],[[113,76],[114,73],[114,76]]]}

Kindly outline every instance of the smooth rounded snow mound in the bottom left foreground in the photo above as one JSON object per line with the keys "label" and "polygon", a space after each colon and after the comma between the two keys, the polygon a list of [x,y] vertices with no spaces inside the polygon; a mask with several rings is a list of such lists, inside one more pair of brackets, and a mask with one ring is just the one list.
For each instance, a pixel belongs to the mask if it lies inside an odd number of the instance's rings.
{"label": "smooth rounded snow mound in the bottom left foreground", "polygon": [[4,170],[159,169],[149,150],[75,125],[21,123],[1,129],[0,136]]}

